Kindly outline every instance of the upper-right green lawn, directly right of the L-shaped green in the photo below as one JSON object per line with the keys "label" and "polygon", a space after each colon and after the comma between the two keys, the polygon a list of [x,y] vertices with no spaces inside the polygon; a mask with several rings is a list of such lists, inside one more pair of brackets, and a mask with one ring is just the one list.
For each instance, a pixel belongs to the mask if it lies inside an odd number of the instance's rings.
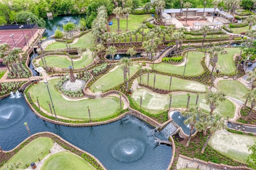
{"label": "upper-right green lawn, directly right of the L-shaped green", "polygon": [[240,53],[239,48],[225,48],[228,52],[224,55],[219,55],[216,69],[220,70],[222,74],[235,74],[236,66],[233,60],[235,54]]}

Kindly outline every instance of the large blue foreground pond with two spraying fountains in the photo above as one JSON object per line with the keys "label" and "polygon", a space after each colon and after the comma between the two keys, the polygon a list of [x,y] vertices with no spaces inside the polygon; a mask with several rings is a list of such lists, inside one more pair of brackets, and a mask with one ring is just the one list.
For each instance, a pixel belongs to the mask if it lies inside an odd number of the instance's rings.
{"label": "large blue foreground pond with two spraying fountains", "polygon": [[[93,154],[108,170],[164,170],[172,157],[172,147],[154,143],[154,137],[147,135],[153,127],[134,116],[94,127],[60,126],[37,117],[22,95],[0,100],[0,146],[3,150],[13,149],[29,136],[24,122],[28,123],[32,134],[49,131],[60,135]],[[162,140],[167,140],[167,136],[161,132],[155,134]]]}

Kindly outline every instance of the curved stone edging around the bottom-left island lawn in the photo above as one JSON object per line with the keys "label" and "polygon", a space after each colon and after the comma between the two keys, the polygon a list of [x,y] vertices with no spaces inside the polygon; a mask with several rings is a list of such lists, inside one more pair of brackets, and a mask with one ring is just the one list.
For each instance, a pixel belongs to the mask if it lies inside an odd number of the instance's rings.
{"label": "curved stone edging around the bottom-left island lawn", "polygon": [[[107,169],[103,166],[103,164],[102,164],[96,157],[94,157],[92,154],[90,154],[90,153],[88,153],[88,152],[86,152],[86,151],[84,151],[84,150],[82,150],[82,149],[76,147],[75,145],[72,145],[72,144],[69,143],[68,141],[62,139],[62,137],[60,137],[59,135],[56,135],[56,134],[51,133],[51,132],[39,132],[39,133],[35,133],[35,134],[31,135],[31,137],[27,137],[24,141],[22,141],[22,142],[21,142],[19,145],[17,145],[14,149],[8,150],[8,151],[4,151],[4,150],[3,150],[3,153],[14,152],[18,147],[20,147],[20,145],[22,145],[23,143],[25,143],[28,139],[32,138],[32,140],[34,140],[34,139],[36,139],[36,136],[37,136],[37,135],[42,135],[42,137],[43,137],[43,135],[44,135],[45,133],[57,137],[57,138],[60,139],[62,142],[64,142],[64,143],[70,145],[71,147],[73,147],[73,148],[79,150],[80,152],[84,152],[84,153],[88,154],[90,157],[92,157],[94,160],[96,160],[96,162],[97,162],[104,170],[107,170]],[[33,138],[33,137],[34,137],[34,138]],[[55,141],[54,141],[54,142],[55,142]],[[75,154],[74,152],[72,152],[72,153]],[[80,155],[79,155],[79,156],[80,156]],[[88,162],[88,163],[89,163],[89,162]],[[90,164],[90,163],[89,163],[89,164]]]}

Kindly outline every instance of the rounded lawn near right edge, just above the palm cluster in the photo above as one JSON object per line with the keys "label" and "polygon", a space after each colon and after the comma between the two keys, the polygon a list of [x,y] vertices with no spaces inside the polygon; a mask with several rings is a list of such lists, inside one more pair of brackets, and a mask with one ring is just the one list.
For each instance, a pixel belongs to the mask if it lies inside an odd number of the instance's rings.
{"label": "rounded lawn near right edge, just above the palm cluster", "polygon": [[225,96],[230,96],[241,100],[242,102],[245,102],[245,98],[243,98],[243,96],[248,91],[244,84],[236,80],[220,80],[218,82],[217,89]]}

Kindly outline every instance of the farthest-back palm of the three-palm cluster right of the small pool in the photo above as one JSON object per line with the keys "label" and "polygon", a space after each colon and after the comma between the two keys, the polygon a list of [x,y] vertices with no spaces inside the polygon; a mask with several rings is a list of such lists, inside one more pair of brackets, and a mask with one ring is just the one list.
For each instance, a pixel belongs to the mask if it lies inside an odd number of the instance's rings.
{"label": "farthest-back palm of the three-palm cluster right of the small pool", "polygon": [[218,102],[223,102],[226,100],[224,97],[224,94],[222,92],[208,92],[204,98],[206,100],[206,104],[210,105],[210,115],[212,115],[214,109],[216,109],[217,106],[219,106]]}

